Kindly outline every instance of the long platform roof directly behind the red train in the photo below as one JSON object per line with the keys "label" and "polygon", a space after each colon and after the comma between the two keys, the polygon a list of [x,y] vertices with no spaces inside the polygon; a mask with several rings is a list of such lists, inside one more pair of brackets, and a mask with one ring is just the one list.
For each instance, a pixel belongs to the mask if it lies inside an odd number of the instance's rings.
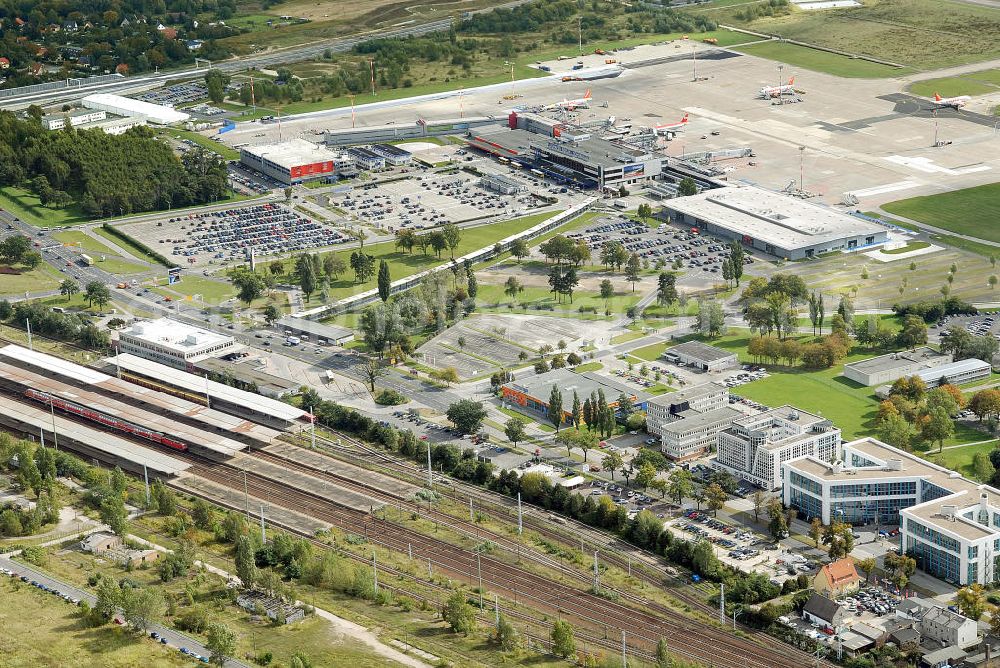
{"label": "long platform roof directly behind the red train", "polygon": [[51,403],[56,413],[75,415],[95,425],[103,424],[146,440],[156,441],[159,435],[167,436],[175,442],[169,447],[176,447],[176,442],[179,442],[192,452],[213,459],[229,459],[249,448],[217,429],[194,427],[177,420],[174,415],[164,415],[81,387],[66,385],[56,378],[3,361],[0,361],[0,390],[35,402],[46,413]]}

